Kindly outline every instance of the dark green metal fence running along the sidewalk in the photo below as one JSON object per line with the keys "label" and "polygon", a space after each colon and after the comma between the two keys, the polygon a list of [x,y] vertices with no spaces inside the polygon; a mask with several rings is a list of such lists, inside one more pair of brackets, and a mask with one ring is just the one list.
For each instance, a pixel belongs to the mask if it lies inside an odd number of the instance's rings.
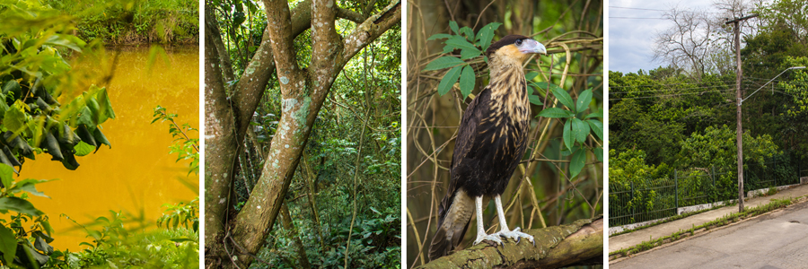
{"label": "dark green metal fence running along the sidewalk", "polygon": [[[770,158],[764,165],[744,169],[744,195],[750,190],[798,184],[808,177],[808,165],[796,154]],[[736,199],[735,167],[676,169],[670,178],[646,178],[609,183],[610,227],[675,216],[682,207]]]}

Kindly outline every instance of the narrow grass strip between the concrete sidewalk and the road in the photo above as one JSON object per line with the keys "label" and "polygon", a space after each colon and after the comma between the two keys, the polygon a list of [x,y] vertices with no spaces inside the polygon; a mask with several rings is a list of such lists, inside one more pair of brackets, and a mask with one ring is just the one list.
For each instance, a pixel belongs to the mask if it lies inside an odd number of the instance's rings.
{"label": "narrow grass strip between the concrete sidewalk and the road", "polygon": [[621,248],[621,249],[619,249],[617,251],[610,252],[609,253],[609,259],[612,260],[612,259],[615,259],[615,258],[628,256],[628,255],[631,255],[631,254],[637,254],[639,252],[646,251],[646,250],[654,248],[654,247],[662,246],[663,244],[666,244],[666,243],[670,243],[670,242],[673,242],[673,241],[676,241],[676,240],[679,240],[679,239],[684,239],[684,238],[687,238],[689,236],[693,236],[693,235],[696,234],[696,232],[698,232],[699,230],[702,230],[702,229],[704,229],[704,230],[715,229],[715,228],[725,226],[725,225],[733,223],[733,222],[742,221],[744,219],[748,219],[748,218],[751,218],[751,217],[754,217],[754,216],[757,216],[757,215],[760,215],[760,214],[763,214],[763,213],[768,213],[768,212],[773,211],[773,210],[778,209],[778,208],[785,208],[786,206],[788,206],[790,204],[794,204],[794,202],[799,200],[800,198],[801,197],[793,198],[793,199],[789,199],[789,198],[786,198],[786,199],[772,199],[771,202],[768,203],[768,204],[763,204],[763,205],[760,205],[760,206],[757,206],[757,207],[748,208],[746,211],[744,211],[742,213],[728,214],[728,215],[725,215],[724,217],[716,219],[715,221],[708,221],[708,222],[705,222],[705,223],[703,223],[701,225],[698,225],[698,226],[696,226],[694,224],[693,228],[690,228],[688,230],[680,230],[680,231],[672,233],[670,236],[666,236],[666,237],[662,237],[662,238],[658,238],[658,239],[648,239],[648,241],[643,241],[642,243],[637,244],[637,246]]}

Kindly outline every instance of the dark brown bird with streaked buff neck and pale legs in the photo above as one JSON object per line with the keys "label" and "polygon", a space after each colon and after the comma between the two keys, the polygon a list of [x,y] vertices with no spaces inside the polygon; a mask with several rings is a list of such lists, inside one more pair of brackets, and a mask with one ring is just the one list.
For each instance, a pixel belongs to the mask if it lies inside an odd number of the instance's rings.
{"label": "dark brown bird with streaked buff neck and pale legs", "polygon": [[[429,246],[430,260],[446,256],[460,245],[472,211],[477,213],[474,245],[484,240],[502,245],[500,237],[514,239],[517,244],[519,239],[528,239],[535,245],[533,237],[518,227],[508,230],[501,201],[527,146],[531,107],[523,62],[531,54],[547,55],[547,49],[522,35],[505,36],[486,49],[490,79],[463,112],[449,187],[438,206],[437,230]],[[492,197],[502,230],[488,235],[483,229],[482,211]]]}

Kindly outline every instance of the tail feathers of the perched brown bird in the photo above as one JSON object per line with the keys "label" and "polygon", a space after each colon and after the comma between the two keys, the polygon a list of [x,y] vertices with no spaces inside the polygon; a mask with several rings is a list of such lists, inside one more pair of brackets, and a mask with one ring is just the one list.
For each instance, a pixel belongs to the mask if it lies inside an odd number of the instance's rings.
{"label": "tail feathers of the perched brown bird", "polygon": [[474,213],[474,200],[462,190],[444,197],[438,210],[438,226],[429,245],[429,260],[446,256],[460,245]]}

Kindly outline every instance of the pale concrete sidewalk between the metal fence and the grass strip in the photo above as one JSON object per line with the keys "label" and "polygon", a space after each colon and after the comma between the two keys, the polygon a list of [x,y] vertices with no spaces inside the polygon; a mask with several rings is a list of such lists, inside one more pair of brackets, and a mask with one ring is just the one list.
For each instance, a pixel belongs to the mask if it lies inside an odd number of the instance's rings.
{"label": "pale concrete sidewalk between the metal fence and the grass strip", "polygon": [[[776,195],[750,198],[743,203],[743,206],[745,208],[751,208],[760,204],[768,204],[771,199],[795,198],[804,195],[808,195],[808,185],[787,188],[781,190]],[[693,226],[698,226],[708,221],[715,221],[716,219],[731,213],[738,213],[738,204],[717,208],[707,211],[706,213],[695,214],[681,220],[657,224],[653,227],[632,231],[616,237],[610,237],[609,252],[616,251],[621,248],[634,247],[643,241],[648,241],[650,239],[658,239],[670,236],[674,232],[688,230],[693,228]]]}

